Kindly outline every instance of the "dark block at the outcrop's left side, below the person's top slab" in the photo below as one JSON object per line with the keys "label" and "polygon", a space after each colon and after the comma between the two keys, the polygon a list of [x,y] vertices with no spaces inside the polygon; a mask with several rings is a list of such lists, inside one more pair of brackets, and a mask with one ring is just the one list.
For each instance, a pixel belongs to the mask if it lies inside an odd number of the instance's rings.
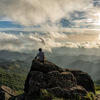
{"label": "dark block at the outcrop's left side, below the person's top slab", "polygon": [[[25,81],[24,91],[28,92],[36,87],[44,88],[46,85],[45,75],[40,71],[30,71]],[[35,87],[35,88],[34,88]]]}

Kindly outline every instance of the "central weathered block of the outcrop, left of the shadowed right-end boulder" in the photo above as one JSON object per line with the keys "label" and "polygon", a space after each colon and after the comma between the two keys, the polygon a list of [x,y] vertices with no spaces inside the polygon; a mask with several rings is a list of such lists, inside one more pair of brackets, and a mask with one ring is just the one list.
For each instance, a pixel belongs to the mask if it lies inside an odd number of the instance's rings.
{"label": "central weathered block of the outcrop, left of the shadowed right-end boulder", "polygon": [[60,86],[61,88],[69,88],[76,86],[76,82],[67,80],[66,77],[58,71],[51,71],[47,74],[48,84],[47,88]]}

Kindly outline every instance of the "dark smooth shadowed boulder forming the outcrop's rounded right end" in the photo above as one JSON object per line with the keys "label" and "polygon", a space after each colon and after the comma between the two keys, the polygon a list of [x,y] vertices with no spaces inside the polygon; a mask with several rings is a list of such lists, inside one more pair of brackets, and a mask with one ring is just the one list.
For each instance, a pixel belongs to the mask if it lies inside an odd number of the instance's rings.
{"label": "dark smooth shadowed boulder forming the outcrop's rounded right end", "polygon": [[66,69],[66,71],[71,72],[75,76],[78,85],[95,94],[94,82],[90,75],[80,70]]}

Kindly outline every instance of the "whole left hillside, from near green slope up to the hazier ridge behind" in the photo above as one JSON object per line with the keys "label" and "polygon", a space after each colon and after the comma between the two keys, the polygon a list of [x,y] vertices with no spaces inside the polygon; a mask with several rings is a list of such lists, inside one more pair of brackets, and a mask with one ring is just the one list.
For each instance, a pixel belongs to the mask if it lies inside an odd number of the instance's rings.
{"label": "whole left hillside, from near green slope up to the hazier ridge behind", "polygon": [[0,59],[0,85],[22,92],[30,64],[24,61]]}

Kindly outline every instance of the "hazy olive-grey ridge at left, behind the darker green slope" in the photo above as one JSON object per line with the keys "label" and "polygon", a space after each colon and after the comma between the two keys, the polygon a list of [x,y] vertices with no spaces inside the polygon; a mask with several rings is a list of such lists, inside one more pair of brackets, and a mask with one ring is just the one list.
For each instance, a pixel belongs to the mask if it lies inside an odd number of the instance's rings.
{"label": "hazy olive-grey ridge at left, behind the darker green slope", "polygon": [[14,72],[14,73],[28,73],[30,67],[30,63],[16,60],[0,60],[0,68],[8,71],[8,72]]}

